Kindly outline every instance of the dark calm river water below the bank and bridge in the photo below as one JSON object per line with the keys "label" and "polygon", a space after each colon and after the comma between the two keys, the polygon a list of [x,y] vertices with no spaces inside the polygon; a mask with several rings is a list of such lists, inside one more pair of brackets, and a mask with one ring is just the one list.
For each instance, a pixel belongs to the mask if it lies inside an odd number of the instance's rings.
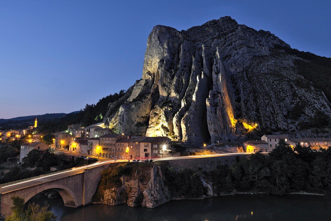
{"label": "dark calm river water below the bank and bridge", "polygon": [[235,194],[201,200],[171,200],[149,209],[126,204],[109,206],[89,204],[79,208],[65,207],[61,198],[47,199],[43,194],[29,202],[50,204],[57,221],[234,221],[234,220],[331,220],[331,197],[318,195]]}

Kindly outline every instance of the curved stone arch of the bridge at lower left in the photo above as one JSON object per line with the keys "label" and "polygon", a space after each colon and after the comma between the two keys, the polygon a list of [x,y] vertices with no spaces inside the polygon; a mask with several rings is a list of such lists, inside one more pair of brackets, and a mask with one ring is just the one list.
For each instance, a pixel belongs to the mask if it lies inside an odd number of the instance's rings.
{"label": "curved stone arch of the bridge at lower left", "polygon": [[52,184],[52,185],[42,185],[37,190],[30,193],[28,196],[24,198],[24,202],[26,203],[29,199],[31,199],[36,194],[47,190],[47,189],[55,189],[62,197],[64,205],[69,207],[78,207],[80,204],[78,203],[78,200],[75,196],[75,194],[72,192],[71,189],[69,189],[67,186],[59,185],[59,184]]}

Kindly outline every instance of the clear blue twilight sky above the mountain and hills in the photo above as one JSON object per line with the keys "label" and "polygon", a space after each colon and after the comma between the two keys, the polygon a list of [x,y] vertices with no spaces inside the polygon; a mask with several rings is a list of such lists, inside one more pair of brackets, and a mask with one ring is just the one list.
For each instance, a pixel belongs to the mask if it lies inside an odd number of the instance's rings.
{"label": "clear blue twilight sky above the mountain and hills", "polygon": [[0,2],[0,118],[71,112],[142,76],[155,25],[186,30],[222,16],[292,48],[331,56],[330,1]]}

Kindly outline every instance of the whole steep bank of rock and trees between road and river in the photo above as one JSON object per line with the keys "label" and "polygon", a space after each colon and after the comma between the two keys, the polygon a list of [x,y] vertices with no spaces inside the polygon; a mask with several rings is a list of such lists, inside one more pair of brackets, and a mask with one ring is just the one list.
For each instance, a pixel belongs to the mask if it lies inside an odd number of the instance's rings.
{"label": "whole steep bank of rock and trees between road and river", "polygon": [[331,194],[331,148],[292,150],[280,143],[268,156],[252,154],[213,171],[195,168],[175,171],[167,162],[118,163],[103,172],[95,203],[148,208],[170,199],[201,199],[233,193],[283,195],[293,192]]}

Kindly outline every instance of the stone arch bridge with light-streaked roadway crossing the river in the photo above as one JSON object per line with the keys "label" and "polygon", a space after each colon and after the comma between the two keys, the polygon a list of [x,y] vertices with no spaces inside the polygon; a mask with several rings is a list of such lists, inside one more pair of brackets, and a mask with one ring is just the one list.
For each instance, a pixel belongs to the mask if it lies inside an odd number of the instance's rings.
{"label": "stone arch bridge with light-streaked roadway crossing the river", "polygon": [[89,204],[101,180],[101,172],[108,166],[109,163],[101,163],[93,167],[45,175],[32,181],[1,187],[1,216],[7,217],[11,214],[12,196],[19,196],[27,202],[31,197],[46,189],[58,191],[65,206],[76,208]]}

